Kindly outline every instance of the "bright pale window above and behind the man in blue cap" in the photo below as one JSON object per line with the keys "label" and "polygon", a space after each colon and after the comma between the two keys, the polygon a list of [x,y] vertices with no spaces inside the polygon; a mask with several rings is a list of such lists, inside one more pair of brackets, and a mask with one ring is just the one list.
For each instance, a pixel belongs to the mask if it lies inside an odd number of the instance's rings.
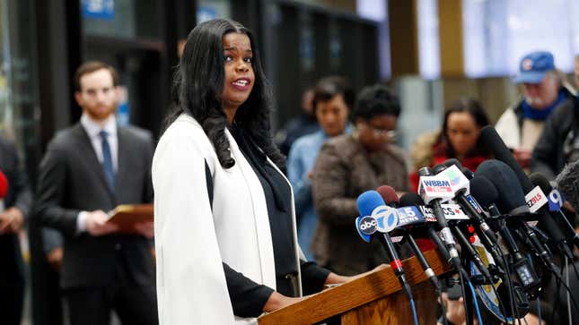
{"label": "bright pale window above and behind the man in blue cap", "polygon": [[573,71],[579,52],[579,4],[575,0],[462,0],[465,73],[468,77],[514,75],[521,57],[536,50]]}

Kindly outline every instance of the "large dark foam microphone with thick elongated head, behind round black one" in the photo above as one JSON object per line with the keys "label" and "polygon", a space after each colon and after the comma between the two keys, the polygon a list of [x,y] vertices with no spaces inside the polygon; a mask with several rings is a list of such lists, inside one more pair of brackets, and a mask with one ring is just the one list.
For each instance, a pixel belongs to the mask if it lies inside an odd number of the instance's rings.
{"label": "large dark foam microphone with thick elongated head, behind round black one", "polygon": [[[529,207],[524,199],[522,188],[517,181],[516,174],[513,172],[513,169],[504,164],[504,162],[495,159],[484,161],[478,166],[475,175],[485,176],[495,185],[496,191],[499,193],[499,200],[496,201],[499,210],[507,211],[509,215],[514,216],[529,212]],[[531,183],[531,181],[529,183]],[[523,220],[515,219],[515,225],[522,229],[531,241],[532,248],[540,257],[540,260],[545,263],[548,269],[554,270],[555,265],[550,260],[550,254],[527,223]]]}

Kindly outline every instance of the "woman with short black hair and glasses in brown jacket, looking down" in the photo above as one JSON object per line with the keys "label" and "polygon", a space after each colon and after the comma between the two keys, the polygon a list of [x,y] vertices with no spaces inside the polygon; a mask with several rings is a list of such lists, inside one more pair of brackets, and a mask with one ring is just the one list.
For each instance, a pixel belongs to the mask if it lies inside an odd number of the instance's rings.
{"label": "woman with short black hair and glasses in brown jacket, looking down", "polygon": [[320,218],[311,245],[320,265],[355,275],[389,261],[380,244],[355,230],[356,198],[388,184],[407,192],[404,153],[393,143],[398,98],[382,85],[364,88],[355,103],[355,131],[327,141],[313,168],[313,200]]}

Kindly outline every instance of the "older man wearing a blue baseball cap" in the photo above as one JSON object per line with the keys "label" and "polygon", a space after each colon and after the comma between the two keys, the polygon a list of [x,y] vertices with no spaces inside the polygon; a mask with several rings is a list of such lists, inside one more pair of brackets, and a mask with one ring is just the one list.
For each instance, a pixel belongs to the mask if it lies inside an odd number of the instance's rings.
{"label": "older man wearing a blue baseball cap", "polygon": [[522,98],[508,107],[496,122],[496,132],[513,150],[522,167],[529,167],[531,152],[543,131],[548,115],[569,98],[562,73],[555,67],[553,55],[546,51],[523,56],[519,74],[513,79],[522,84]]}

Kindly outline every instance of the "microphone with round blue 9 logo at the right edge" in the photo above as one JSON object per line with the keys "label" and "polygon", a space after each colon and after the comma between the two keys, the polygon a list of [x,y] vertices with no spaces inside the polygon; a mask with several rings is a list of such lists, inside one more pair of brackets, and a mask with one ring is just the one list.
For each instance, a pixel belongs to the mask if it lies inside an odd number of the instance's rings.
{"label": "microphone with round blue 9 logo at the right edge", "polygon": [[[567,220],[565,214],[561,211],[561,206],[563,205],[561,193],[551,187],[551,184],[548,183],[548,179],[544,175],[533,173],[531,176],[529,176],[529,178],[531,179],[532,184],[539,186],[543,193],[547,193],[549,210],[551,212],[558,212],[549,213],[550,216],[556,220],[557,225],[559,226],[566,240],[573,241],[577,248],[579,248],[579,235],[575,233],[575,228],[571,226],[569,220]],[[571,258],[573,258],[573,252],[569,251],[569,248],[566,247],[566,244],[561,243],[561,246],[564,251],[568,251],[566,254],[568,255],[571,253]]]}

